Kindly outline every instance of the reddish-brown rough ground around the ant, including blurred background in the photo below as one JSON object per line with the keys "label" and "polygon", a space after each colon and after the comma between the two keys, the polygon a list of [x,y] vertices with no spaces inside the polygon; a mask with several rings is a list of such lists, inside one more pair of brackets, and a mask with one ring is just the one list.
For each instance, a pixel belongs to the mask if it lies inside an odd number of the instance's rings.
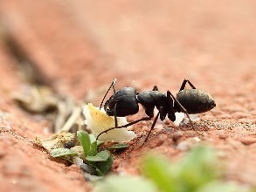
{"label": "reddish-brown rough ground around the ant, including blurred background", "polygon": [[[200,140],[218,149],[227,179],[256,185],[254,1],[1,0],[0,14],[0,191],[90,189],[78,168],[33,145],[36,135],[47,136],[51,122],[11,99],[29,83],[17,53],[35,68],[37,81],[76,99],[114,78],[118,88],[157,85],[173,93],[190,79],[217,101],[197,122]],[[114,172],[137,174],[138,159],[149,148],[176,160],[198,136],[187,127],[163,125],[134,150],[148,130],[137,125],[138,138],[115,157]],[[180,135],[177,148],[174,135]]]}

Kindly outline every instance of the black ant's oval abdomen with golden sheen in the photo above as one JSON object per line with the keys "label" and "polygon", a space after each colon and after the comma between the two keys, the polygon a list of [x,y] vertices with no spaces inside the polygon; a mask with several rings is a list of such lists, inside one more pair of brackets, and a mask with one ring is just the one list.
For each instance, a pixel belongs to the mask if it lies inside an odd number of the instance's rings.
{"label": "black ant's oval abdomen with golden sheen", "polygon": [[176,94],[176,99],[190,114],[204,113],[216,106],[211,94],[199,89],[183,89]]}

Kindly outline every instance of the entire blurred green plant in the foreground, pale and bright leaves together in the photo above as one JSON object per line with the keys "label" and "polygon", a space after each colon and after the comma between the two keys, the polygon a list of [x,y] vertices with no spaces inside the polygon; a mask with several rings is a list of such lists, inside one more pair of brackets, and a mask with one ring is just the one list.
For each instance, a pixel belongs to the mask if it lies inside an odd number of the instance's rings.
{"label": "entire blurred green plant in the foreground, pale and bright leaves together", "polygon": [[178,163],[170,163],[162,156],[148,154],[142,160],[140,179],[112,175],[96,182],[94,191],[119,192],[124,191],[123,189],[133,192],[249,191],[241,188],[237,183],[222,181],[222,168],[219,164],[215,152],[210,147],[204,146],[195,147]]}

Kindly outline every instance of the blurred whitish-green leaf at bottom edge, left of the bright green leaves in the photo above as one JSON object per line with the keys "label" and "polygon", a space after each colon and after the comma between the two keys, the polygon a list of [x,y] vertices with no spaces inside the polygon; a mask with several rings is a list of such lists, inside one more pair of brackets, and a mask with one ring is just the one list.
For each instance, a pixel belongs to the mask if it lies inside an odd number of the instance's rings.
{"label": "blurred whitish-green leaf at bottom edge, left of the bright green leaves", "polygon": [[110,175],[95,182],[93,192],[157,192],[154,183],[139,176]]}

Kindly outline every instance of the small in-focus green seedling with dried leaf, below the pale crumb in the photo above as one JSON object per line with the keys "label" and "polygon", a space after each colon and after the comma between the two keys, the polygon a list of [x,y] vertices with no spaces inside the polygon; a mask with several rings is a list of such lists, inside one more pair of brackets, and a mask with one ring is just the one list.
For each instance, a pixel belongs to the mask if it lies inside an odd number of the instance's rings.
{"label": "small in-focus green seedling with dried leaf, below the pale crumb", "polygon": [[56,134],[45,141],[37,138],[37,143],[45,147],[54,158],[72,161],[80,167],[82,165],[89,166],[91,170],[93,169],[90,173],[86,172],[86,178],[89,180],[99,179],[102,175],[106,175],[112,168],[114,157],[110,154],[110,150],[128,147],[127,144],[119,143],[99,152],[98,148],[103,141],[96,141],[93,134],[78,131],[77,138],[80,141],[80,146],[71,148],[64,147],[66,141],[73,141],[74,139],[74,135],[70,133]]}

